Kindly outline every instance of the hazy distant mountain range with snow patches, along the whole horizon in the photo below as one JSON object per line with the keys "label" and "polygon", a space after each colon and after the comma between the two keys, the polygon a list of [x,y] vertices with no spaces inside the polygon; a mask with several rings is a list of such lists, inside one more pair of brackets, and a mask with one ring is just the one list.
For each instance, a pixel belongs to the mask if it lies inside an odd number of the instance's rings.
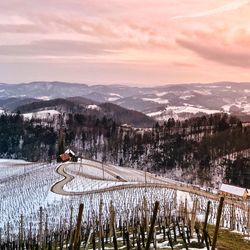
{"label": "hazy distant mountain range with snow patches, along the whole horizon", "polygon": [[[15,104],[1,99],[17,98]],[[250,83],[218,82],[158,87],[92,85],[65,82],[0,84],[0,107],[14,109],[18,102],[63,98],[79,105],[114,103],[143,112],[157,120],[186,119],[202,114],[227,112],[250,120]],[[73,98],[73,99],[72,99]]]}

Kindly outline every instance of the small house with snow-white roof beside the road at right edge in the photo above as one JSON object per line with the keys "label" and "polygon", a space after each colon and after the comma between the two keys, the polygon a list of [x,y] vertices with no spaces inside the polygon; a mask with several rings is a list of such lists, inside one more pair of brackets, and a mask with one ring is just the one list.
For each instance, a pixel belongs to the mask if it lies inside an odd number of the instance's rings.
{"label": "small house with snow-white roof beside the road at right edge", "polygon": [[225,197],[242,198],[244,200],[250,197],[250,192],[247,188],[237,187],[225,183],[221,184],[219,194]]}

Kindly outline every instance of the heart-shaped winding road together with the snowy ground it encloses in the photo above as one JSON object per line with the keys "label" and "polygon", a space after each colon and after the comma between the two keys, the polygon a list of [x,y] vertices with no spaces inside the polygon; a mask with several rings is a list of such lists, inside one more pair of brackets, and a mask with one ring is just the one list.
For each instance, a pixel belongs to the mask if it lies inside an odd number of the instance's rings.
{"label": "heart-shaped winding road together with the snowy ground it encloses", "polygon": [[[102,165],[102,163],[92,160],[83,160],[81,163],[63,163],[58,166],[56,171],[63,176],[63,179],[55,183],[51,187],[51,191],[65,196],[96,194],[132,188],[170,188],[204,196],[212,200],[219,200],[217,194],[168,178],[155,176],[148,172],[146,173],[145,184],[145,172],[142,170],[109,164]],[[104,179],[103,175],[105,176]],[[81,180],[81,178],[83,179]],[[74,188],[66,188],[67,185],[72,184],[77,179],[78,184],[75,184]],[[89,180],[96,180],[99,183],[93,187],[87,186]],[[243,208],[241,201],[225,199],[225,202],[227,204],[237,203],[239,207]]]}

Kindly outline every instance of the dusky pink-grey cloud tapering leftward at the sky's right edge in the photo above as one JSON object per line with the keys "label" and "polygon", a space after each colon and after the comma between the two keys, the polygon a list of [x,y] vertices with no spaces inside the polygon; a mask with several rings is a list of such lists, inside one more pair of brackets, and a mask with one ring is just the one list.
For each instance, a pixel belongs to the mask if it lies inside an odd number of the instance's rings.
{"label": "dusky pink-grey cloud tapering leftward at the sky's right edge", "polygon": [[198,56],[229,66],[250,67],[250,34],[245,29],[229,34],[228,30],[196,31],[176,39],[176,43]]}

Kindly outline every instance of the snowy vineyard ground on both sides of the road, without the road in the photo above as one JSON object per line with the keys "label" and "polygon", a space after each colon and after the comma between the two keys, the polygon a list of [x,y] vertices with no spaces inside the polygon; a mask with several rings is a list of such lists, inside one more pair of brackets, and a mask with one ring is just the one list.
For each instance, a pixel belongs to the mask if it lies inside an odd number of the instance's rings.
{"label": "snowy vineyard ground on both sides of the road, without the road", "polygon": [[[24,161],[0,161],[0,228],[6,229],[7,224],[11,232],[17,233],[20,226],[20,216],[24,216],[24,227],[34,232],[39,227],[39,208],[42,207],[43,227],[47,220],[50,230],[59,225],[69,226],[71,207],[73,218],[76,218],[78,206],[84,204],[84,220],[89,221],[98,216],[100,200],[103,200],[103,216],[108,218],[109,206],[112,201],[116,213],[121,219],[133,216],[135,209],[143,202],[145,196],[149,204],[149,214],[152,213],[153,204],[160,202],[160,214],[165,213],[166,206],[171,206],[171,213],[176,214],[178,205],[186,201],[191,211],[193,201],[198,199],[197,218],[204,220],[208,199],[188,192],[176,191],[173,188],[135,187],[114,189],[102,193],[88,193],[100,189],[117,187],[119,185],[133,185],[144,183],[145,173],[139,170],[104,166],[104,179],[102,164],[84,160],[79,164],[63,164],[66,175],[71,180],[63,187],[65,192],[82,192],[78,195],[60,195],[51,192],[51,187],[60,183],[65,177],[58,174],[59,166],[52,164],[32,164]],[[119,178],[117,178],[119,176]],[[93,178],[95,177],[95,178]],[[169,179],[146,174],[148,183],[168,183]],[[173,183],[172,183],[173,184]],[[177,184],[176,184],[177,185]],[[212,202],[210,223],[215,223],[217,201]],[[164,208],[165,207],[165,208]],[[231,207],[226,206],[223,214],[223,226],[230,223]],[[247,214],[240,208],[235,209],[236,223],[234,230],[244,231]]]}

